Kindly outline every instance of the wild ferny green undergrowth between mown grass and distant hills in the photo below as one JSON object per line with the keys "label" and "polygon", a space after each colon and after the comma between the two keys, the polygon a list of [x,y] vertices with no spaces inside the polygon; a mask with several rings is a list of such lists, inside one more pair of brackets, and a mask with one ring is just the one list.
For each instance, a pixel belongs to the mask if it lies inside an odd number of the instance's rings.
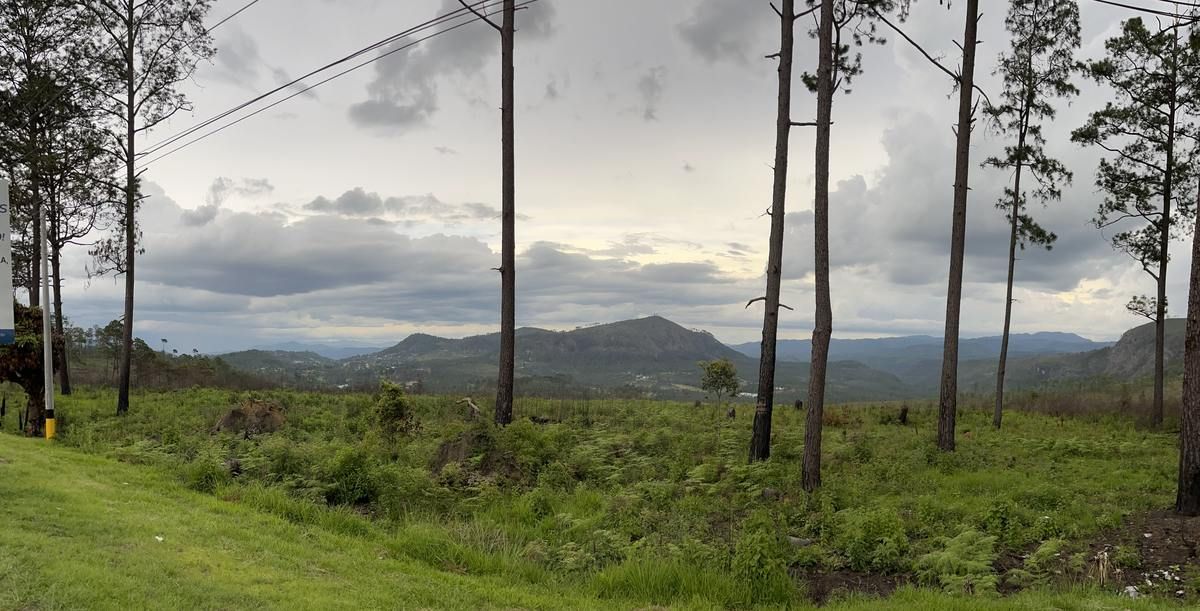
{"label": "wild ferny green undergrowth between mown grass and distant hills", "polygon": [[[470,576],[484,588],[478,592],[514,583],[524,597],[504,599],[508,589],[498,589],[462,606],[557,606],[562,601],[538,601],[536,593],[550,589],[616,606],[851,604],[888,594],[898,607],[916,600],[955,607],[954,597],[964,595],[978,597],[980,606],[1068,593],[1109,600],[1152,570],[1136,541],[1115,533],[1170,505],[1177,460],[1172,435],[1112,414],[1014,412],[997,432],[983,399],[962,411],[959,449],[946,454],[931,443],[929,405],[907,406],[904,424],[899,405],[840,406],[826,413],[826,485],[806,495],[799,489],[803,412],[791,408],[776,413],[772,460],[746,465],[745,417],[730,420],[691,403],[523,400],[523,418],[504,429],[470,421],[452,397],[406,396],[391,385],[377,395],[144,394],[121,419],[110,405],[110,391],[62,397],[56,445],[139,465],[143,486],[161,483],[144,473],[166,473],[175,484],[161,493],[176,499],[187,496],[182,489],[214,497],[203,507],[228,514],[222,537],[268,521],[292,537],[352,538],[353,549],[397,558],[397,571]],[[271,420],[275,432],[217,431],[235,408],[280,412],[282,421]],[[4,427],[14,432],[11,418]],[[10,471],[61,460],[133,477],[127,467],[65,450],[35,459],[42,442],[2,438],[0,459]],[[55,527],[60,535],[108,537],[92,532],[106,526],[82,526],[103,525],[110,505],[89,505],[88,486],[67,492],[78,487],[67,479],[78,475],[64,472],[41,485],[37,472],[23,484],[0,484],[0,492],[25,495],[31,507],[73,495],[79,515],[73,526]],[[16,521],[37,522],[32,514]],[[10,561],[0,575],[67,579],[19,564]],[[179,579],[200,580],[188,575],[205,569],[179,570]],[[1200,573],[1176,567],[1177,587],[1158,587],[1153,600],[1200,601]],[[6,595],[16,606],[47,603],[29,589]],[[73,606],[41,606],[55,605]]]}

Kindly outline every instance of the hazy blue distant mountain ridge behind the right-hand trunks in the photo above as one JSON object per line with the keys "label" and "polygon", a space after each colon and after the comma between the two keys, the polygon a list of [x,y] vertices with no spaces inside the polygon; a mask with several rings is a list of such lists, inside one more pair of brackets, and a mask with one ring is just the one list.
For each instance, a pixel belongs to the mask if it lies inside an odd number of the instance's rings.
{"label": "hazy blue distant mountain ridge behind the right-hand trunks", "polygon": [[[1000,336],[960,340],[960,363],[991,360],[992,376],[995,376],[995,360],[1000,358]],[[1068,333],[1013,334],[1009,339],[1008,357],[1012,363],[1028,357],[1084,353],[1108,346],[1110,346],[1108,342],[1093,342]],[[757,357],[760,351],[758,342],[742,343],[733,346],[733,348],[751,357]],[[812,342],[810,340],[780,340],[776,351],[780,360],[808,363],[812,353]],[[941,376],[942,339],[930,335],[910,335],[868,340],[833,340],[829,345],[829,358],[832,360],[856,360],[869,367],[886,371],[928,395],[929,389],[937,388]]]}

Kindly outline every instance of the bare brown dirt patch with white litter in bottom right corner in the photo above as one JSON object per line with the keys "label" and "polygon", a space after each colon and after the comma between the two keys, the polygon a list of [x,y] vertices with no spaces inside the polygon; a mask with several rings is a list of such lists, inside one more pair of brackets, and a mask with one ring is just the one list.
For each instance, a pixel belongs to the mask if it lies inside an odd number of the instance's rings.
{"label": "bare brown dirt patch with white litter in bottom right corner", "polygon": [[1091,546],[1090,577],[1114,589],[1140,594],[1196,597],[1189,577],[1200,575],[1200,517],[1171,511],[1129,516]]}

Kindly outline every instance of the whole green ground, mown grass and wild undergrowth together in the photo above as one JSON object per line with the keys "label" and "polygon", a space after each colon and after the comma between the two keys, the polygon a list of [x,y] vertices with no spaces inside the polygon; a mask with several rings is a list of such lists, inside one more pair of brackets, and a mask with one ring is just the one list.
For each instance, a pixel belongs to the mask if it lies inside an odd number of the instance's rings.
{"label": "whole green ground, mown grass and wild undergrowth together", "polygon": [[371,396],[257,397],[283,406],[278,432],[214,433],[246,396],[192,390],[140,395],[124,419],[84,391],[61,401],[59,442],[0,435],[0,607],[1200,600],[1187,563],[1142,586],[1153,595],[1117,597],[1157,567],[1120,533],[1170,505],[1176,454],[1116,417],[1014,413],[995,432],[968,408],[943,455],[928,406],[906,425],[896,406],[834,408],[809,496],[790,409],[772,461],[748,466],[749,414],[709,407],[526,401],[552,421],[494,430],[449,399],[406,401],[397,427]]}

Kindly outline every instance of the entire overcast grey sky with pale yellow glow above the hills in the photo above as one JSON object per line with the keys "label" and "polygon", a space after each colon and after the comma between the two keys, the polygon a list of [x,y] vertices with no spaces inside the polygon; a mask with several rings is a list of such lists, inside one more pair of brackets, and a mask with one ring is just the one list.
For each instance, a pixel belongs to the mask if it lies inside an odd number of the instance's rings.
{"label": "entire overcast grey sky with pale yellow glow above the hills", "polygon": [[[209,23],[244,4],[217,0]],[[919,1],[904,28],[955,67],[964,5]],[[977,74],[995,97],[1008,36],[1002,2],[984,5]],[[263,0],[214,32],[218,53],[182,88],[192,112],[144,143],[457,7]],[[1129,12],[1090,0],[1080,10],[1079,56],[1097,58]],[[776,64],[764,55],[779,46],[769,4],[540,0],[517,26],[517,324],[660,315],[726,342],[760,339],[761,305],[745,304],[766,282]],[[797,77],[816,68],[811,28],[797,24]],[[865,48],[863,65],[834,101],[834,336],[941,335],[958,96],[894,36]],[[1058,241],[1020,252],[1013,329],[1111,340],[1144,322],[1124,304],[1152,293],[1153,281],[1091,223],[1103,199],[1099,156],[1069,133],[1106,92],[1076,84],[1081,95],[1057,101],[1046,126],[1048,150],[1074,181],[1061,202],[1032,210]],[[498,35],[473,24],[152,162],[137,335],[180,352],[227,352],[498,330],[499,85]],[[797,83],[793,119],[811,120],[815,103]],[[964,336],[1002,325],[1008,229],[995,203],[1009,176],[978,162],[1003,144],[977,128]],[[811,128],[793,130],[782,301],[794,312],[780,323],[788,339],[811,334],[812,148]],[[1187,246],[1172,246],[1170,304],[1187,301]],[[120,315],[124,280],[88,280],[85,264],[83,248],[66,253],[65,310],[76,324],[103,324]]]}

